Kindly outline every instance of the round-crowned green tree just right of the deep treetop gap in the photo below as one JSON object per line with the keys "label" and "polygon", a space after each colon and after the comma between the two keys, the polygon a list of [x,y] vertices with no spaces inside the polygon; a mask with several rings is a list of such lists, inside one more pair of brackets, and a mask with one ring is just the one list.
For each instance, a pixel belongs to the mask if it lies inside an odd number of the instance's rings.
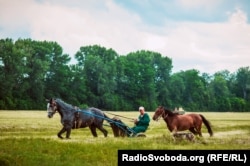
{"label": "round-crowned green tree just right of the deep treetop gap", "polygon": [[102,109],[117,108],[115,59],[117,53],[112,49],[93,45],[81,47],[75,58],[84,67],[88,105]]}

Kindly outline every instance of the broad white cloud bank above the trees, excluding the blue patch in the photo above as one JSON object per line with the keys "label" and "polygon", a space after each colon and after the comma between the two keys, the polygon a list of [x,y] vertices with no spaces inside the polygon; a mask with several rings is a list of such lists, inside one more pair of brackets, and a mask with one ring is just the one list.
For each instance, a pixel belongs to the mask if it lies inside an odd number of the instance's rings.
{"label": "broad white cloud bank above the trees, excluding the blue patch", "polygon": [[[212,74],[249,66],[250,25],[240,9],[227,13],[228,21],[221,23],[165,21],[164,26],[155,27],[143,24],[136,13],[112,0],[102,4],[75,0],[76,6],[59,2],[0,0],[0,37],[56,41],[71,56],[80,46],[92,44],[113,48],[121,55],[156,51],[173,60],[174,72],[194,68]],[[192,8],[214,1],[180,2]]]}

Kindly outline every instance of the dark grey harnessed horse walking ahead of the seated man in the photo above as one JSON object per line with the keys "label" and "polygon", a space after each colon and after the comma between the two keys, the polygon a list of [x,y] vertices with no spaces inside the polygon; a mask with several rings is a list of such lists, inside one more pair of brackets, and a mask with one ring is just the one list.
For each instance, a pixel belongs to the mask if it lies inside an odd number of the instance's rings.
{"label": "dark grey harnessed horse walking ahead of the seated man", "polygon": [[61,123],[63,128],[59,131],[57,136],[63,139],[62,134],[66,132],[66,138],[70,138],[71,129],[89,127],[94,137],[97,137],[96,128],[98,128],[105,137],[108,135],[108,131],[103,128],[103,121],[112,120],[107,117],[100,109],[87,108],[80,110],[74,106],[65,103],[61,99],[50,99],[47,105],[48,117],[52,118],[58,111],[61,116]]}

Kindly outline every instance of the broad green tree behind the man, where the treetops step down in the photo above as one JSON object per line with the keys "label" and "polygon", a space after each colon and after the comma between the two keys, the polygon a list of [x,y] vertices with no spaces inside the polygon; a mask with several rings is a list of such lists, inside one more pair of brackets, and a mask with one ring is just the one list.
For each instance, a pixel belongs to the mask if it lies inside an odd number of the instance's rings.
{"label": "broad green tree behind the man, where the treetops step down", "polygon": [[156,52],[141,50],[126,56],[121,80],[126,89],[123,96],[131,109],[143,105],[147,110],[154,110],[158,104],[169,103],[171,68],[171,60]]}

